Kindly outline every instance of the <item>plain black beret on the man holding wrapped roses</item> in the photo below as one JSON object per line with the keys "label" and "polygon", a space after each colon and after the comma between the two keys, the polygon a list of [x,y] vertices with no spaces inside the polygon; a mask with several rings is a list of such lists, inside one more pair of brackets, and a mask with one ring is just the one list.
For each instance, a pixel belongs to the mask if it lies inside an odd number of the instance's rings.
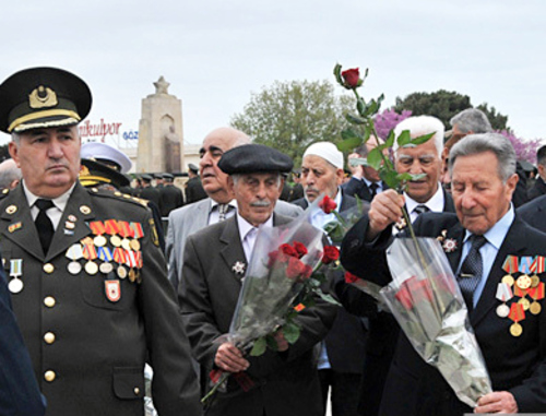
{"label": "plain black beret on the man holding wrapped roses", "polygon": [[290,171],[293,166],[289,156],[263,144],[234,147],[224,153],[218,162],[218,167],[228,175],[266,171],[282,174]]}

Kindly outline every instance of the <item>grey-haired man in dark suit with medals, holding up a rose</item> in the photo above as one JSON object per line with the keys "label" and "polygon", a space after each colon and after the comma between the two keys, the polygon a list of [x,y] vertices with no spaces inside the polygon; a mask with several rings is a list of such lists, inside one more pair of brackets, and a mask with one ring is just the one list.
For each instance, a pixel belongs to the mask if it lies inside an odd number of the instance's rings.
{"label": "grey-haired man in dark suit with medals, holding up a rose", "polygon": [[[545,314],[529,310],[524,319],[505,314],[526,296],[524,269],[508,269],[507,259],[534,259],[546,254],[546,236],[514,215],[511,203],[518,182],[515,154],[500,134],[472,134],[453,146],[450,171],[456,215],[425,214],[415,225],[417,236],[441,237],[453,242],[447,251],[470,310],[470,320],[482,348],[494,393],[478,400],[475,413],[546,412]],[[377,199],[367,217],[357,223],[342,245],[342,263],[351,272],[380,285],[391,280],[384,252],[392,241],[404,197]],[[366,261],[363,261],[366,259]],[[544,283],[544,270],[533,287]],[[527,277],[529,278],[529,277]],[[464,283],[463,280],[466,280]],[[512,286],[510,299],[497,298],[499,284]],[[510,290],[511,292],[511,290]],[[512,293],[512,292],[511,292]],[[534,300],[544,310],[544,296]],[[512,317],[512,318],[510,318]],[[458,415],[471,413],[439,371],[426,364],[405,335],[399,338],[384,389],[382,415]]]}

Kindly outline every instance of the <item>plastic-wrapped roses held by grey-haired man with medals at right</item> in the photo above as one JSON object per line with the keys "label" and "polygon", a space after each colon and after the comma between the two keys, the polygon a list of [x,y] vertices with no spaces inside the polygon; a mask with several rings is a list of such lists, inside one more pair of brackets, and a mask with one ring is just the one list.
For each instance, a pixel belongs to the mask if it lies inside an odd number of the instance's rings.
{"label": "plastic-wrapped roses held by grey-haired man with medals at right", "polygon": [[438,240],[395,238],[387,251],[392,282],[380,292],[423,359],[471,407],[491,392],[482,350]]}

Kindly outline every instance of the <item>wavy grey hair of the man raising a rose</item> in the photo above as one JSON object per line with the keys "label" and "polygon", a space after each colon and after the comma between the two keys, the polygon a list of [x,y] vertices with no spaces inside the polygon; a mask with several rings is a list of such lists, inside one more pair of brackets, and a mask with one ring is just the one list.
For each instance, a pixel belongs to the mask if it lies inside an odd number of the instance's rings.
{"label": "wavy grey hair of the man raising a rose", "polygon": [[453,175],[453,165],[459,156],[471,156],[492,152],[498,162],[498,175],[502,182],[515,174],[515,151],[510,140],[499,133],[468,134],[458,142],[449,153],[449,171]]}

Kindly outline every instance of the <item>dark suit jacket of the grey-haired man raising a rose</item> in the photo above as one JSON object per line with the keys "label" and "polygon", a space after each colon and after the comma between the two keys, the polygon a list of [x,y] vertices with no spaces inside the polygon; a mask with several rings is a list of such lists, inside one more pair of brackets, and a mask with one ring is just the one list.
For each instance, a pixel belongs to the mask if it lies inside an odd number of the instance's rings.
{"label": "dark suit jacket of the grey-haired man raising a rose", "polygon": [[[366,243],[366,222],[360,222],[346,235],[342,246],[342,263],[351,272],[380,285],[391,281],[384,251],[392,235],[383,231],[373,243]],[[453,273],[461,261],[464,229],[456,215],[426,213],[414,224],[415,234],[438,237],[447,230],[447,239],[456,241],[458,250],[447,253]],[[518,215],[495,259],[487,283],[476,308],[471,313],[471,325],[482,348],[494,391],[511,392],[519,412],[546,412],[546,314],[526,313],[521,322],[523,334],[513,337],[508,318],[500,318],[496,307],[498,283],[506,275],[502,263],[507,255],[545,255],[546,235],[533,229]],[[364,263],[360,259],[369,259]],[[544,282],[544,276],[541,277]],[[507,304],[518,301],[512,298]],[[541,300],[544,308],[545,301]],[[456,400],[438,370],[428,366],[415,352],[405,335],[399,338],[393,365],[387,380],[381,415],[462,415],[472,409]]]}

